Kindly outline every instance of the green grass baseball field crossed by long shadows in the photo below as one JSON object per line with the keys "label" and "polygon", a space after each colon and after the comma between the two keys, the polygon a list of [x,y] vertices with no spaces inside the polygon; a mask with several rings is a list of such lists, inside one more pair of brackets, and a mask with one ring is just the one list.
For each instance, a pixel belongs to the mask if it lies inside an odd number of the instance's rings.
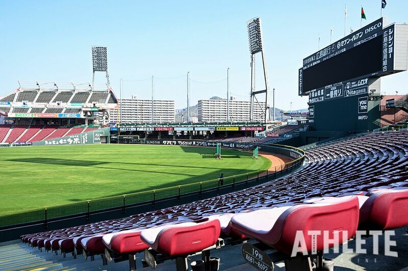
{"label": "green grass baseball field crossed by long shadows", "polygon": [[77,145],[0,148],[0,215],[266,170],[271,162],[215,148]]}

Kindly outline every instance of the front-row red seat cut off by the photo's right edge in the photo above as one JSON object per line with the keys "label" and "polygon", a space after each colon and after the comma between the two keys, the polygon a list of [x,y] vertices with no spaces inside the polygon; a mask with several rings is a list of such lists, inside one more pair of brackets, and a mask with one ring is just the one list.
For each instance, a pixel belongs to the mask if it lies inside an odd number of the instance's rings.
{"label": "front-row red seat cut off by the photo's right edge", "polygon": [[387,230],[408,225],[408,187],[372,190],[367,195],[359,228]]}

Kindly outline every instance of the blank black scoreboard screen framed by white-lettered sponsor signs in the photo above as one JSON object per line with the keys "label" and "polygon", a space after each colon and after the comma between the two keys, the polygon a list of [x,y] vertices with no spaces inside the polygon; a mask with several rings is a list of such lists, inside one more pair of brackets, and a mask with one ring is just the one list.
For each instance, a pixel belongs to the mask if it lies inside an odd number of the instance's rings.
{"label": "blank black scoreboard screen framed by white-lettered sponsor signs", "polygon": [[[383,76],[394,70],[395,26],[382,28],[382,18],[303,59],[299,95],[350,78]],[[333,88],[333,89],[331,89]],[[313,96],[315,102],[345,97],[345,88],[331,86]]]}

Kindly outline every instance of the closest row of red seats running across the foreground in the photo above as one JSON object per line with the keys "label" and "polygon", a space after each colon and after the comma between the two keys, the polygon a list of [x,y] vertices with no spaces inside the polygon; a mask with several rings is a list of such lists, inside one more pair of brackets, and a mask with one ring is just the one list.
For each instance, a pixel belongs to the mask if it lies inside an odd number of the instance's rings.
{"label": "closest row of red seats running across the foreground", "polygon": [[[365,194],[365,195],[363,195]],[[200,220],[173,221],[160,226],[139,227],[99,233],[66,232],[60,236],[21,236],[33,247],[61,252],[83,252],[90,255],[128,255],[152,249],[166,257],[187,255],[216,247],[219,238],[252,238],[285,254],[291,254],[298,231],[305,238],[305,249],[323,251],[324,240],[318,238],[312,248],[308,231],[328,231],[342,244],[356,230],[388,230],[408,225],[408,188],[375,189],[357,195],[313,198],[296,205],[265,208],[241,213],[205,216]],[[339,233],[344,232],[344,234]],[[337,232],[338,238],[334,238]],[[337,242],[337,243],[336,243]],[[214,248],[215,248],[214,247]],[[186,266],[187,268],[187,266]]]}

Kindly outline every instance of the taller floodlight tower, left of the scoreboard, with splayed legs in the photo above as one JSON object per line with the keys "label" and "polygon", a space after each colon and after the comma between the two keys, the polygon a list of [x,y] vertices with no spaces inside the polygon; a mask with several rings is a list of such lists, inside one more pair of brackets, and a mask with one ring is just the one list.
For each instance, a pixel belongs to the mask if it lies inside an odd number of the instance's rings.
{"label": "taller floodlight tower, left of the scoreboard, with splayed legs", "polygon": [[[249,52],[251,54],[251,111],[250,111],[250,121],[253,121],[253,100],[257,100],[259,106],[260,103],[256,97],[257,94],[265,93],[265,109],[262,109],[265,116],[264,121],[267,122],[269,117],[269,81],[268,72],[266,69],[265,53],[262,46],[262,28],[261,19],[259,17],[253,18],[246,22],[248,28],[248,41],[249,41]],[[262,66],[264,71],[265,88],[264,90],[255,90],[255,55],[261,53],[262,55]]]}

